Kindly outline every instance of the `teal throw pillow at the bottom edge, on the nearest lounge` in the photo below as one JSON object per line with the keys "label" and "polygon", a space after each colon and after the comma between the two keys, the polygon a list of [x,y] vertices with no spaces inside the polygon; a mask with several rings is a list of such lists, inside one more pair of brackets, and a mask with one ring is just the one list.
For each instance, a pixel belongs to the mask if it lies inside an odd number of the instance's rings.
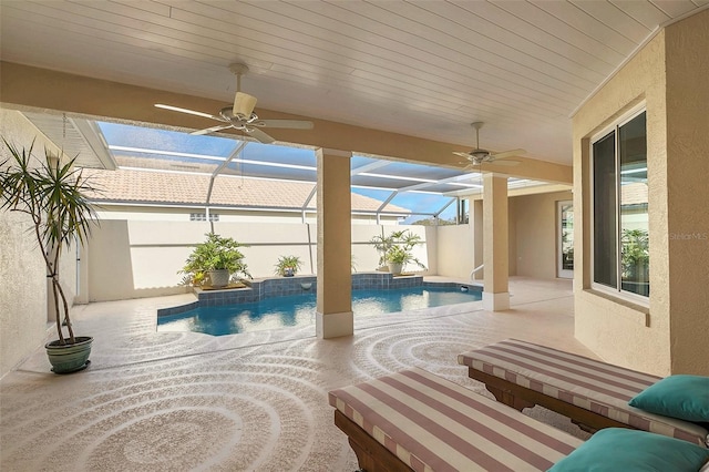
{"label": "teal throw pillow at the bottom edge, on the nearest lounge", "polygon": [[598,431],[548,472],[697,472],[709,449],[645,431],[608,428]]}

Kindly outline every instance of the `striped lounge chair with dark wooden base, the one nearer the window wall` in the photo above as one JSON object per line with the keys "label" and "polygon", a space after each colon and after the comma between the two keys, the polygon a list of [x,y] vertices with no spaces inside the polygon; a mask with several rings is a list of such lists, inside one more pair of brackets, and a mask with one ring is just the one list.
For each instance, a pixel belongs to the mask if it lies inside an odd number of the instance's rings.
{"label": "striped lounge chair with dark wooden base, the one nearer the window wall", "polygon": [[660,377],[520,339],[460,353],[467,377],[515,410],[538,404],[585,431],[626,428],[709,445],[705,424],[646,412],[628,404]]}

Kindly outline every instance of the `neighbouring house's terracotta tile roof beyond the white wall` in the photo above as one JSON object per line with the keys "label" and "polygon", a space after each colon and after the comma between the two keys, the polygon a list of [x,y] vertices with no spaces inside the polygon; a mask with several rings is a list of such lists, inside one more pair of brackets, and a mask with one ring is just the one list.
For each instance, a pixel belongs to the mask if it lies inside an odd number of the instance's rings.
{"label": "neighbouring house's terracotta tile roof beyond the white wall", "polygon": [[[210,175],[195,173],[168,173],[152,170],[103,171],[85,168],[99,192],[89,196],[96,202],[136,204],[203,205],[209,187]],[[274,181],[254,177],[219,175],[214,181],[210,204],[250,208],[301,208],[316,185],[310,182]],[[353,212],[374,212],[380,201],[359,195],[352,196]],[[308,204],[317,206],[317,196]],[[411,213],[398,205],[387,205],[384,212]]]}

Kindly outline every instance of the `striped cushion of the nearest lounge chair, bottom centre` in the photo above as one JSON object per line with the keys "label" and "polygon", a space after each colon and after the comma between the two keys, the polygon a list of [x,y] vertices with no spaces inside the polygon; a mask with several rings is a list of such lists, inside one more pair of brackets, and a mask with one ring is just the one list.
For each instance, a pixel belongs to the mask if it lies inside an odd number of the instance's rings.
{"label": "striped cushion of the nearest lounge chair, bottom centre", "polygon": [[329,401],[414,471],[547,470],[582,443],[415,368],[332,390]]}

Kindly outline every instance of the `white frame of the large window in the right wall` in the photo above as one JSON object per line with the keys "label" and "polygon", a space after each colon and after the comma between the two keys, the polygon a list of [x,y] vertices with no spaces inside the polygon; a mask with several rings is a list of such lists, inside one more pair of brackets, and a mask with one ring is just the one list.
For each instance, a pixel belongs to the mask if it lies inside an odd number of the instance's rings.
{"label": "white frame of the large window in the right wall", "polygon": [[[614,297],[617,298],[621,298],[625,299],[627,301],[637,304],[637,305],[643,305],[643,306],[649,306],[649,301],[650,301],[650,297],[648,296],[644,296],[644,295],[639,295],[639,294],[635,294],[633,291],[627,291],[623,289],[623,277],[621,277],[621,237],[623,237],[623,232],[620,230],[620,198],[621,198],[621,178],[620,178],[620,158],[619,158],[619,131],[620,127],[627,123],[629,123],[630,121],[633,121],[634,119],[636,119],[637,116],[639,116],[640,114],[645,113],[646,114],[646,122],[647,122],[647,104],[645,102],[641,102],[635,106],[633,106],[630,110],[628,110],[627,112],[625,112],[624,114],[621,114],[620,116],[618,116],[616,120],[614,120],[612,123],[609,123],[608,125],[604,126],[603,129],[600,129],[598,132],[594,133],[589,141],[588,141],[588,155],[589,155],[589,184],[590,184],[590,212],[589,212],[589,222],[590,222],[590,227],[589,227],[589,234],[590,234],[590,288],[594,290],[598,290],[602,291],[604,294],[608,294],[612,295]],[[595,174],[594,174],[594,160],[595,160],[595,155],[594,155],[594,144],[597,143],[598,141],[603,140],[605,136],[607,136],[609,133],[615,132],[615,136],[614,136],[614,157],[615,157],[615,172],[616,172],[616,182],[615,182],[615,187],[616,187],[616,201],[615,201],[615,230],[616,230],[616,287],[609,287],[607,285],[600,284],[600,283],[596,283],[595,279],[595,250],[596,250],[596,244],[595,244],[595,238],[594,238],[594,233],[595,233],[595,228],[596,228],[596,222],[595,222],[595,193],[596,193],[596,182],[595,182]],[[645,129],[645,133],[646,133],[646,140],[647,140],[647,124],[646,124],[646,129]],[[646,155],[646,162],[647,161],[647,155]],[[649,162],[648,162],[648,167],[649,167]],[[649,216],[649,206],[648,206],[648,216]]]}

